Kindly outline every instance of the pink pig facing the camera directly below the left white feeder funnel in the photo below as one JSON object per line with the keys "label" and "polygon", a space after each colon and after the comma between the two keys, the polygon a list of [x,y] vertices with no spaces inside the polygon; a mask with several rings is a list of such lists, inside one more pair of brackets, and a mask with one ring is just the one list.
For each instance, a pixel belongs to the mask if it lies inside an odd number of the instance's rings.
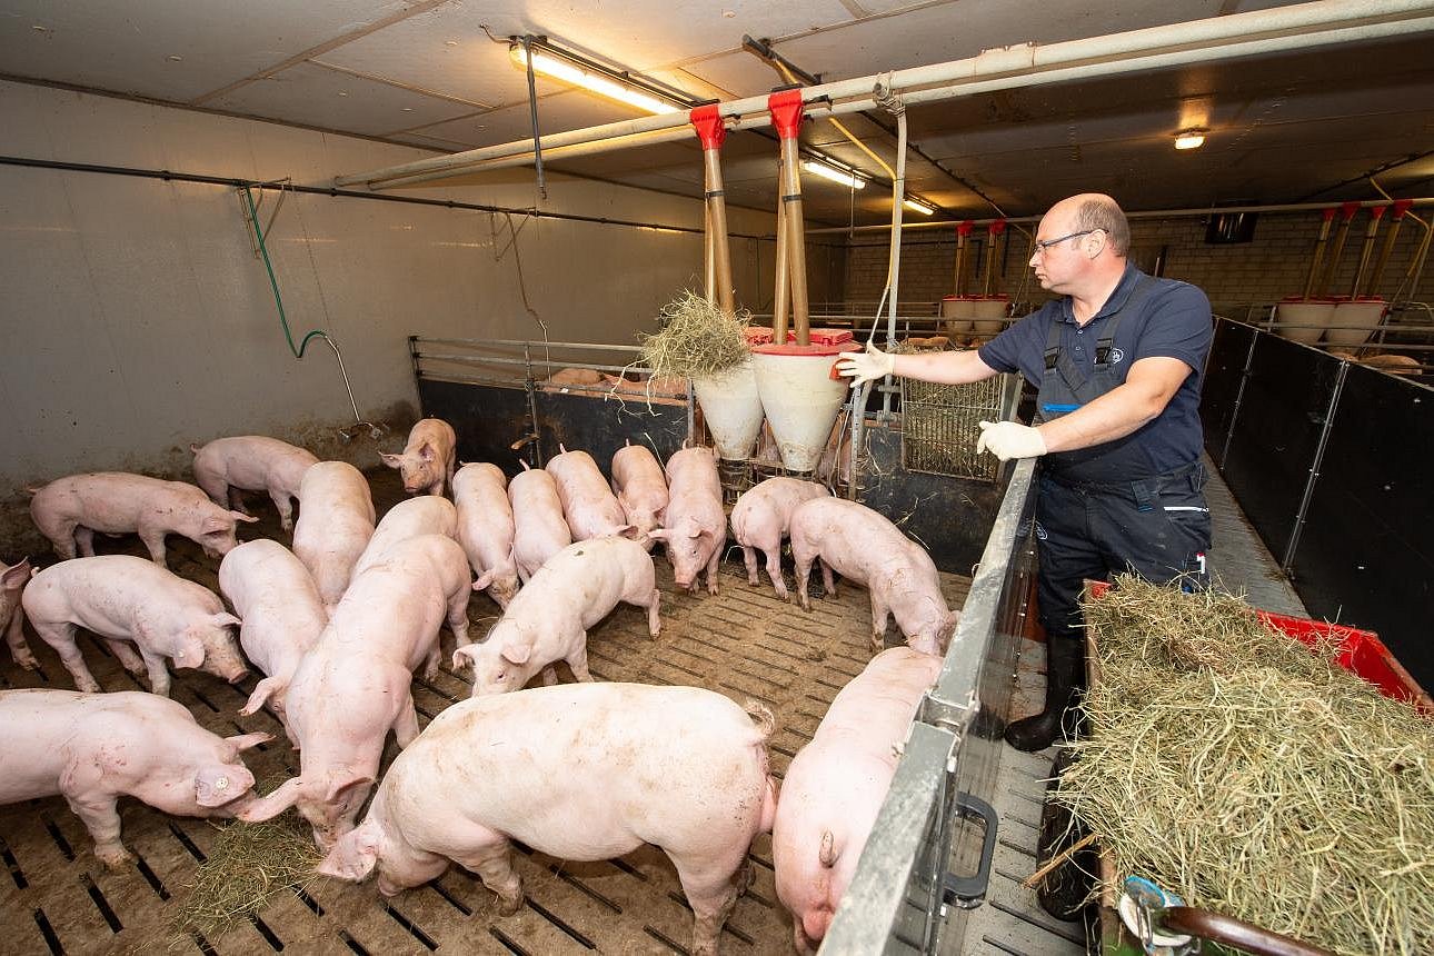
{"label": "pink pig facing the camera directly below the left white feeder funnel", "polygon": [[727,513],[711,449],[683,449],[667,460],[667,510],[650,537],[667,542],[667,559],[678,588],[697,593],[697,575],[707,569],[707,591],[717,593],[717,568],[727,545]]}

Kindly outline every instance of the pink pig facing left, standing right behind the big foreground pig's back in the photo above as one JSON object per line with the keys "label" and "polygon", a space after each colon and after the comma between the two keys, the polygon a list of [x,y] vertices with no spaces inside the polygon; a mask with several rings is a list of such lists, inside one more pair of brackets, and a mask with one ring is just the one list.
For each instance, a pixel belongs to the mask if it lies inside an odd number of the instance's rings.
{"label": "pink pig facing left, standing right behind the big foreground pig's back", "polygon": [[576,542],[518,592],[483,644],[453,654],[453,666],[473,665],[473,697],[521,689],[538,671],[545,684],[554,684],[556,661],[566,661],[579,681],[591,681],[588,628],[625,601],[647,608],[647,629],[657,638],[661,598],[652,556],[637,542]]}

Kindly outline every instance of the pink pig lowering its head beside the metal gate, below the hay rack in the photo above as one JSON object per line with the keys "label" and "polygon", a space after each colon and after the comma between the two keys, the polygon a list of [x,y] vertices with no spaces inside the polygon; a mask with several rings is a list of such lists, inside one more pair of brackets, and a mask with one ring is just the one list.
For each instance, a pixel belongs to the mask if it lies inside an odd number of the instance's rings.
{"label": "pink pig lowering its head beside the metal gate, below the hay rack", "polygon": [[810,611],[807,576],[820,559],[822,582],[836,593],[832,572],[872,596],[872,652],[882,649],[886,618],[893,615],[906,642],[926,654],[946,652],[959,615],[946,608],[931,555],[901,529],[865,505],[816,497],[792,512],[792,556],[797,565],[797,596]]}

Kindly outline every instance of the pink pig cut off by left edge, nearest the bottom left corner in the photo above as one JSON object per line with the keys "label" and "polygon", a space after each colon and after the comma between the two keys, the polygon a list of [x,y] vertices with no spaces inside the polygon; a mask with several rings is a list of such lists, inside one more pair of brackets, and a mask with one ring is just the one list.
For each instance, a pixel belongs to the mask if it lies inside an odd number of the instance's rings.
{"label": "pink pig cut off by left edge, nearest the bottom left corner", "polygon": [[110,869],[133,859],[119,840],[119,797],[178,817],[232,817],[254,800],[239,751],[270,740],[218,737],[182,704],[138,691],[0,691],[0,804],[60,794]]}

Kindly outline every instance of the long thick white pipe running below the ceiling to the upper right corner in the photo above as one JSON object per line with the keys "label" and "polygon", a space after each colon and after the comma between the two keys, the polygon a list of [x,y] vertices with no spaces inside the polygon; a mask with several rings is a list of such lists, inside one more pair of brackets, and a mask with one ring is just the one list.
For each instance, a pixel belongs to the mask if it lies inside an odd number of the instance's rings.
{"label": "long thick white pipe running below the ceiling to the upper right corner", "polygon": [[[1273,50],[1288,52],[1299,46],[1408,36],[1430,29],[1434,29],[1434,0],[1316,0],[1315,3],[1252,10],[1084,40],[1067,40],[1045,46],[1027,43],[1017,47],[984,50],[964,60],[898,70],[891,75],[889,83],[891,89],[902,93],[911,105],[965,96],[982,89],[1011,89],[1034,82],[1106,76],[1131,69],[1153,69],[1164,64],[1249,56]],[[1305,40],[1305,43],[1299,43],[1299,40]],[[1139,64],[1131,66],[1131,60],[1123,57],[1134,57]],[[999,79],[988,80],[994,86],[975,83],[982,77]],[[876,82],[876,76],[863,76],[822,83],[803,87],[802,97],[803,100],[826,97],[837,105],[833,112],[858,112],[875,106],[870,90]],[[849,97],[859,97],[859,105],[842,102]],[[846,106],[850,109],[845,109]],[[750,96],[718,105],[718,112],[724,118],[741,118],[764,112],[764,109],[766,96]],[[634,133],[670,132],[684,125],[683,113],[663,113],[552,133],[545,136],[539,146],[546,150],[556,146],[625,138]],[[369,183],[373,186],[414,173],[463,169],[486,159],[513,158],[532,150],[532,140],[515,140],[337,176],[334,182],[336,185]]]}

